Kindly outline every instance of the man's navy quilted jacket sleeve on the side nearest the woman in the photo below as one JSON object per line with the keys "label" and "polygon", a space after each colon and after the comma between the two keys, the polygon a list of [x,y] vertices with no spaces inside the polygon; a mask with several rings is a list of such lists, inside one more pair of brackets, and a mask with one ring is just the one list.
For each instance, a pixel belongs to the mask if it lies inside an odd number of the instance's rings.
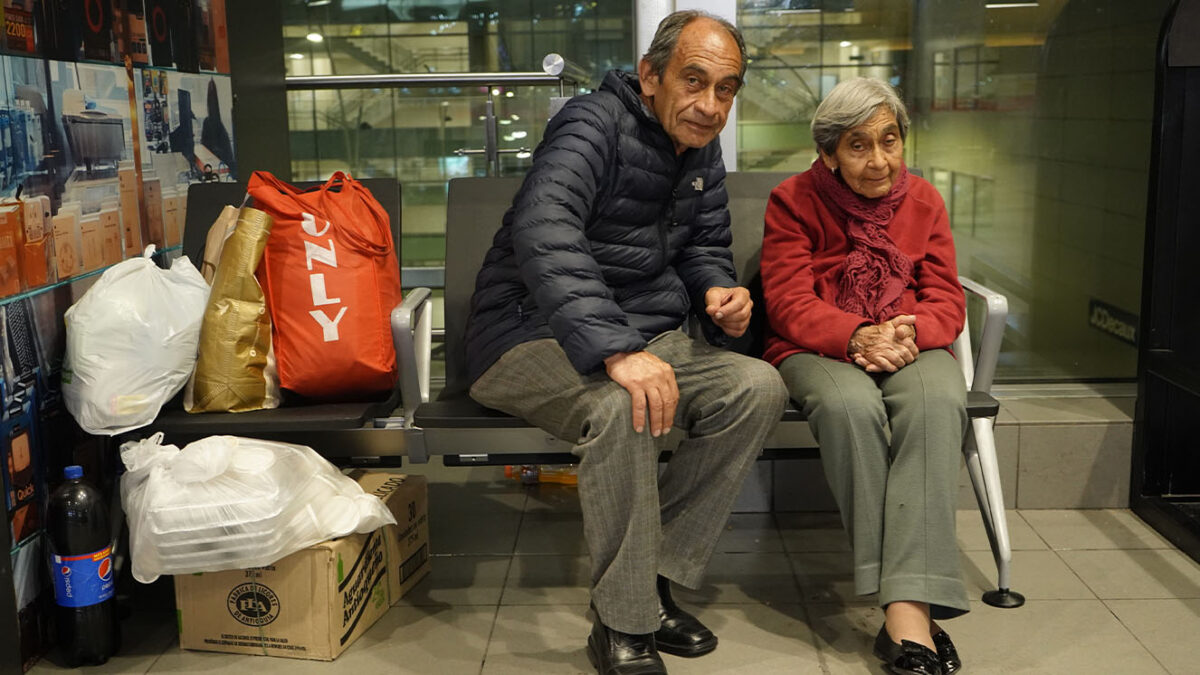
{"label": "man's navy quilted jacket sleeve on the side nearest the woman", "polygon": [[710,344],[724,347],[732,339],[704,311],[704,293],[709,288],[737,285],[737,270],[733,269],[733,255],[730,252],[732,233],[730,199],[725,191],[725,162],[719,149],[713,153],[708,177],[700,210],[691,223],[691,240],[676,258],[676,269],[688,287],[688,295],[704,338]]}

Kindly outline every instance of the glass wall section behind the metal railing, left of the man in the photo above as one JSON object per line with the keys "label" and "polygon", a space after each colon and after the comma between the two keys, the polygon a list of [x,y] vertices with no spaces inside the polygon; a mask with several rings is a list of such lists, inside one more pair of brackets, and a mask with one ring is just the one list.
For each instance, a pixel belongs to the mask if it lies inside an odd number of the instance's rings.
{"label": "glass wall section behind the metal railing, left of the man", "polygon": [[[289,76],[541,72],[547,53],[583,66],[599,83],[634,66],[632,0],[334,2],[286,0]],[[496,86],[500,174],[520,175],[541,139],[557,86]],[[571,91],[568,91],[570,95]],[[292,91],[294,180],[395,177],[403,191],[404,267],[439,267],[445,256],[446,181],[487,175],[482,150],[487,88],[408,86]]]}

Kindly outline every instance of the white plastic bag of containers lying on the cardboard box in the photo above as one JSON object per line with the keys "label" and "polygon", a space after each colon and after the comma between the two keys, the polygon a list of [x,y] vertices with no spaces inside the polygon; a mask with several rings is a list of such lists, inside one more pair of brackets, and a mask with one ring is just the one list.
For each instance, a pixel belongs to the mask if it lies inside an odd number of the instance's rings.
{"label": "white plastic bag of containers lying on the cardboard box", "polygon": [[305,446],[209,436],[182,450],[162,434],[121,446],[133,578],[270,565],[396,522],[383,501]]}

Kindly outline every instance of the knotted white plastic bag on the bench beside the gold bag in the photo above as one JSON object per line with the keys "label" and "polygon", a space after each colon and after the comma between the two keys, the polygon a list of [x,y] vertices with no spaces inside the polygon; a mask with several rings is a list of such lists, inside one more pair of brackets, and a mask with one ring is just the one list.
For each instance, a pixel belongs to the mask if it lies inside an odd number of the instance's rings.
{"label": "knotted white plastic bag on the bench beside the gold bag", "polygon": [[89,434],[150,424],[196,365],[209,286],[186,257],[162,269],[152,253],[110,267],[66,311],[62,396]]}

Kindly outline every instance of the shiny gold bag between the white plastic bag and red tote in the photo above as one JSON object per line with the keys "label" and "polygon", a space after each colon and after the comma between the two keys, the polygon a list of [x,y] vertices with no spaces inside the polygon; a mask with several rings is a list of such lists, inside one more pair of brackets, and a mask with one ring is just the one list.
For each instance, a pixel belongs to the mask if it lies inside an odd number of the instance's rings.
{"label": "shiny gold bag between the white plastic bag and red tote", "polygon": [[271,350],[271,316],[254,269],[271,216],[248,207],[224,241],[200,324],[196,371],[184,396],[187,412],[245,412],[280,405]]}

